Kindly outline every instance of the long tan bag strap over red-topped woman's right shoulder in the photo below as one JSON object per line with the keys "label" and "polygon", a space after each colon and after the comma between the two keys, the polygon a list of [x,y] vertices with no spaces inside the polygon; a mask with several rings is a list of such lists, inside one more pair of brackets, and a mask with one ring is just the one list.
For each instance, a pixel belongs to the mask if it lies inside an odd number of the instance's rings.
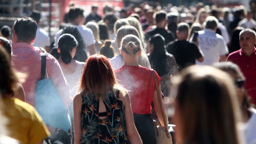
{"label": "long tan bag strap over red-topped woman's right shoulder", "polygon": [[162,102],[160,102],[162,100],[162,97],[161,97],[161,94],[160,94],[160,90],[158,88],[158,84],[157,84],[157,79],[156,79],[156,75],[154,73],[154,70],[151,69],[152,73],[153,73],[153,76],[154,76],[154,82],[155,82],[155,87],[156,87],[156,92],[157,92],[157,97],[158,97],[158,101],[160,103],[160,109],[161,109],[161,113],[162,113],[162,119],[163,119],[163,123],[164,123],[164,128],[165,128],[165,132],[166,132],[166,135],[168,138],[170,138],[170,133],[168,131],[168,124],[167,124],[167,120],[165,119],[164,115],[165,113],[163,112],[162,110]]}

